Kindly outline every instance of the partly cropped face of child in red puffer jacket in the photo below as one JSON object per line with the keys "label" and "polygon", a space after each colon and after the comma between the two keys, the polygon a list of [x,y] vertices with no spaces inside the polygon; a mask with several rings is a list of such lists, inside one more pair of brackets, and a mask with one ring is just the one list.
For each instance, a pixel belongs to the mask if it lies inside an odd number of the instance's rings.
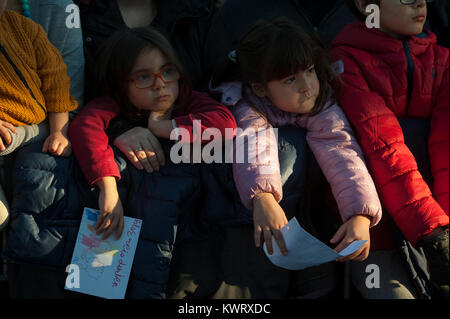
{"label": "partly cropped face of child in red puffer jacket", "polygon": [[427,18],[425,0],[415,4],[402,4],[400,0],[381,0],[381,30],[393,37],[416,35],[423,31]]}

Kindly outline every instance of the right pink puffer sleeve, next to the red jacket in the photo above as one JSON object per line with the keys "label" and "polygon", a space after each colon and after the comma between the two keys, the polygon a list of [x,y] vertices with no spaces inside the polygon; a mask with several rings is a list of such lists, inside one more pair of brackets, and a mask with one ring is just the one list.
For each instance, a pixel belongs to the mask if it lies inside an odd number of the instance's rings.
{"label": "right pink puffer sleeve, next to the red jacket", "polygon": [[307,117],[306,128],[306,140],[331,185],[343,222],[366,215],[371,227],[378,224],[381,203],[344,112],[333,105]]}

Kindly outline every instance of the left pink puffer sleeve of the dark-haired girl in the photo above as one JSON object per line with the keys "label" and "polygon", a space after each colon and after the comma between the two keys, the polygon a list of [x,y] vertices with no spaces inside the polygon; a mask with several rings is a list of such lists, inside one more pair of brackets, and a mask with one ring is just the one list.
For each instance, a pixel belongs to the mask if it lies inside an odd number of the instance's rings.
{"label": "left pink puffer sleeve of the dark-haired girl", "polygon": [[[245,103],[233,112],[238,131],[233,144],[233,177],[242,203],[253,209],[253,197],[272,193],[283,196],[278,143],[272,126]],[[245,156],[246,155],[246,156]]]}

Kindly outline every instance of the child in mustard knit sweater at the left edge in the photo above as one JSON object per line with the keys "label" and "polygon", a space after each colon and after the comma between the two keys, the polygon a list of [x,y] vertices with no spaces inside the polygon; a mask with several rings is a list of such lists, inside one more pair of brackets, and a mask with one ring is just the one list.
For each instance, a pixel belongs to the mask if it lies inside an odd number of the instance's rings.
{"label": "child in mustard knit sweater at the left edge", "polygon": [[[42,27],[0,0],[0,156],[44,141],[42,152],[71,154],[69,112],[78,104],[59,51]],[[0,187],[0,230],[8,210]]]}

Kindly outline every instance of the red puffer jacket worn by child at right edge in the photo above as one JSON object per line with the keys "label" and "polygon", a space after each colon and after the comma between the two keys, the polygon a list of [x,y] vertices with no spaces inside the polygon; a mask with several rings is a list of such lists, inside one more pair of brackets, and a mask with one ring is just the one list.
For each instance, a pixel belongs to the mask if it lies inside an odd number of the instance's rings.
{"label": "red puffer jacket worn by child at right edge", "polygon": [[[380,199],[413,244],[435,227],[448,225],[448,49],[436,36],[394,39],[363,22],[347,25],[330,46],[343,62],[339,100],[357,133]],[[431,121],[430,188],[404,143],[397,118]]]}

